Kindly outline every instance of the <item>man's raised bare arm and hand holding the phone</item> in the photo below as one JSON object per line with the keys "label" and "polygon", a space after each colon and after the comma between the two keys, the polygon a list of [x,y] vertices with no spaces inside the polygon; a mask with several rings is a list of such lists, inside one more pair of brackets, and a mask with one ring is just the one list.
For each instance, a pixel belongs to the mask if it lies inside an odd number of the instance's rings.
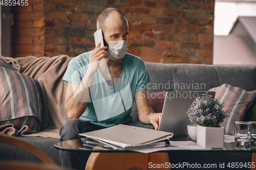
{"label": "man's raised bare arm and hand holding the phone", "polygon": [[84,110],[86,110],[87,104],[90,101],[90,87],[93,84],[95,72],[99,68],[99,61],[102,58],[108,58],[108,53],[103,51],[106,48],[108,47],[100,47],[100,43],[97,44],[94,51],[90,54],[89,67],[79,85],[68,82],[65,109],[70,119],[79,118]]}

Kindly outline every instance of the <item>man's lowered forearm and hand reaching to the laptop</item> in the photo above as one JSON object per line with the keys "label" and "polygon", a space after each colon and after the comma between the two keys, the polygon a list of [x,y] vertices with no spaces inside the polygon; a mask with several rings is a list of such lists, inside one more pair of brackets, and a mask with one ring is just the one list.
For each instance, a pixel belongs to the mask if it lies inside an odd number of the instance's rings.
{"label": "man's lowered forearm and hand reaching to the laptop", "polygon": [[162,113],[155,113],[151,108],[150,102],[148,102],[147,99],[147,89],[136,91],[134,98],[138,109],[140,122],[144,124],[152,124],[154,125],[155,130],[157,130]]}

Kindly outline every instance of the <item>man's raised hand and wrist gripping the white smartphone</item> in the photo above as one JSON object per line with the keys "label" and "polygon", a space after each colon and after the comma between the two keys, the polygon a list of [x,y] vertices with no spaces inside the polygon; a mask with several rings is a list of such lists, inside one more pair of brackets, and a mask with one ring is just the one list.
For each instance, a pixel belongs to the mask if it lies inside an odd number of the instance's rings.
{"label": "man's raised hand and wrist gripping the white smartphone", "polygon": [[88,71],[90,71],[93,74],[95,74],[95,72],[99,68],[99,61],[102,58],[108,58],[109,54],[104,51],[107,48],[108,47],[106,47],[106,46],[101,46],[100,47],[100,42],[96,45],[96,47],[94,48],[93,52],[90,54]]}

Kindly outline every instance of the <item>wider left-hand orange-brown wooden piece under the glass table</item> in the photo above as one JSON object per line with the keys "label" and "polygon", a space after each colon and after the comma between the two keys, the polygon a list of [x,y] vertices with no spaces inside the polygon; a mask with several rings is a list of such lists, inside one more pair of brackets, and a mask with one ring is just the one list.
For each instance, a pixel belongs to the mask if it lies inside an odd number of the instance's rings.
{"label": "wider left-hand orange-brown wooden piece under the glass table", "polygon": [[150,154],[144,153],[91,153],[87,160],[86,170],[95,169],[129,169],[139,167],[148,169]]}

